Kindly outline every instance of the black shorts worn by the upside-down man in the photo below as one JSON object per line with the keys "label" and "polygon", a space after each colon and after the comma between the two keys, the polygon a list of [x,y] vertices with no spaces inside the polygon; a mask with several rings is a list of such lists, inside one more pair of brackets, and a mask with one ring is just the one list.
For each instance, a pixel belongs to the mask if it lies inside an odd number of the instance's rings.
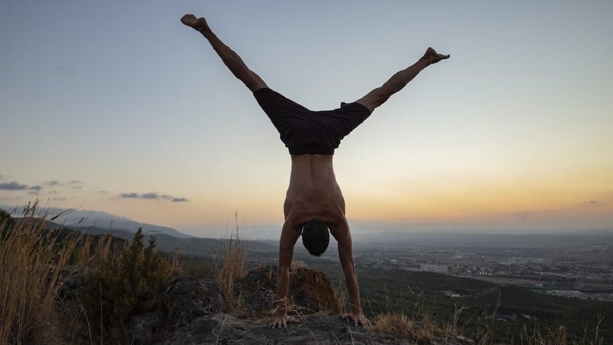
{"label": "black shorts worn by the upside-down man", "polygon": [[309,110],[267,87],[257,89],[253,96],[291,155],[333,155],[341,139],[371,114],[356,102],[333,110]]}

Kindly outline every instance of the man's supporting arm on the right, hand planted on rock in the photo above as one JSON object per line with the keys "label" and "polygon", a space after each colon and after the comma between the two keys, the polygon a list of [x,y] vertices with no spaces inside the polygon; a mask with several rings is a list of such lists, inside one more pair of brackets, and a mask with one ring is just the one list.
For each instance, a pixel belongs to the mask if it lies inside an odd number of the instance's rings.
{"label": "man's supporting arm on the right, hand planted on rock", "polygon": [[351,233],[349,232],[349,224],[344,219],[334,229],[332,234],[338,242],[338,258],[340,259],[343,272],[345,273],[345,283],[349,292],[349,303],[351,303],[351,313],[343,314],[343,319],[351,319],[354,323],[362,324],[362,326],[370,326],[370,321],[364,316],[362,306],[360,305],[360,287],[357,284],[356,268],[353,262],[353,252],[351,244]]}

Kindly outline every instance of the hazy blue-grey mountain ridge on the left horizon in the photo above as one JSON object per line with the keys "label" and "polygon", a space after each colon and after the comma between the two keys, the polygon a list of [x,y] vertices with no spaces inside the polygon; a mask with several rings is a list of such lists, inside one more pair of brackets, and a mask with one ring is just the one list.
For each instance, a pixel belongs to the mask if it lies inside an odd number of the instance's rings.
{"label": "hazy blue-grey mountain ridge on the left horizon", "polygon": [[[15,211],[15,209],[17,209],[17,211],[13,212],[13,216],[19,217],[21,215],[20,211],[23,209],[23,207],[0,205],[0,209],[5,209],[7,211]],[[59,214],[59,217],[53,220],[54,222],[74,228],[96,227],[107,230],[123,230],[130,233],[135,233],[138,228],[143,228],[143,232],[151,235],[164,234],[175,238],[196,238],[196,236],[181,233],[173,228],[139,223],[126,217],[120,217],[119,215],[102,211],[78,209],[60,214],[61,212],[65,211],[65,209],[58,209],[55,207],[50,208],[48,211],[51,217],[55,217],[55,215]]]}

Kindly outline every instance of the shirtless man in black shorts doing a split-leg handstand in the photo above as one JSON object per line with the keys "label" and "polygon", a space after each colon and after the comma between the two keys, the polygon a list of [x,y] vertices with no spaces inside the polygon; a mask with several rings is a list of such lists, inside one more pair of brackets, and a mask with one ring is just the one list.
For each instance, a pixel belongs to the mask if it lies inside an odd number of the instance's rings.
{"label": "shirtless man in black shorts doing a split-leg handstand", "polygon": [[181,22],[208,39],[232,74],[253,92],[257,103],[279,131],[281,141],[289,149],[292,158],[292,172],[283,206],[285,222],[279,243],[276,294],[280,306],[278,316],[270,327],[287,327],[287,323],[297,322],[295,317],[287,315],[286,303],[289,266],[296,241],[302,235],[302,242],[308,252],[319,256],[328,247],[328,230],[338,242],[338,256],[345,272],[351,303],[351,312],[343,314],[343,319],[353,320],[356,326],[370,325],[360,306],[360,291],[351,252],[351,233],[345,217],[345,199],[332,168],[334,149],[376,107],[405,87],[422,69],[449,58],[449,55],[438,54],[428,48],[415,64],[397,72],[383,86],[375,88],[357,101],[341,103],[338,109],[313,111],[268,88],[264,80],[247,68],[237,53],[215,36],[205,18],[186,14]]}

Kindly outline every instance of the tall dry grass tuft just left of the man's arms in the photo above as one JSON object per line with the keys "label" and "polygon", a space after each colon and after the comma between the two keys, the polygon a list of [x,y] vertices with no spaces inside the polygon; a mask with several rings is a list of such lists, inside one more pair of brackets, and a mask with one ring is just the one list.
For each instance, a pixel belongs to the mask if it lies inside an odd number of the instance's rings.
{"label": "tall dry grass tuft just left of the man's arms", "polygon": [[247,243],[240,236],[238,213],[234,216],[235,232],[224,244],[221,262],[215,262],[215,280],[221,289],[227,312],[239,312],[245,309],[242,293],[235,290],[235,283],[247,275]]}

